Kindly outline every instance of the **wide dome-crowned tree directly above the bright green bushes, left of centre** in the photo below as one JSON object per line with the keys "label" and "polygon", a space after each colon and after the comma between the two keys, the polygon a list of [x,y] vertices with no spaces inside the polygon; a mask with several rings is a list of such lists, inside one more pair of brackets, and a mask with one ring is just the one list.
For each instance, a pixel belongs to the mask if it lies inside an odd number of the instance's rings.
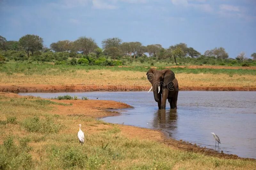
{"label": "wide dome-crowned tree directly above the bright green bushes, left of centre", "polygon": [[77,51],[83,51],[85,55],[93,52],[95,48],[98,48],[98,45],[92,38],[80,37],[74,42],[74,46]]}

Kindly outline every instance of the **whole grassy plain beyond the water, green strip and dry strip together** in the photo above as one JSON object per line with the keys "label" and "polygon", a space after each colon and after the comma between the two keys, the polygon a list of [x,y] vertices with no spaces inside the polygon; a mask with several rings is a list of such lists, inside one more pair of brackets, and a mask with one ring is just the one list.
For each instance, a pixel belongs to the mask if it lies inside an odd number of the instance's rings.
{"label": "whole grassy plain beyond the water, green strip and dry strip together", "polygon": [[[79,85],[113,83],[150,85],[146,72],[149,67],[67,66],[36,63],[6,63],[0,67],[0,84]],[[158,68],[164,69],[164,68]],[[172,68],[180,86],[253,87],[256,70]]]}

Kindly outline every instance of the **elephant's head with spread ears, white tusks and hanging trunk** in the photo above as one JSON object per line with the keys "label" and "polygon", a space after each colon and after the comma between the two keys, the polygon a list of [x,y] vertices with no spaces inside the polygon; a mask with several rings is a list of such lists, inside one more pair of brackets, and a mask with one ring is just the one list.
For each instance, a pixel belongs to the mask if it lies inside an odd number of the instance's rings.
{"label": "elephant's head with spread ears, white tusks and hanging trunk", "polygon": [[173,86],[172,80],[175,78],[175,75],[174,75],[174,72],[169,69],[164,69],[164,70],[149,69],[147,72],[147,77],[148,77],[148,81],[152,84],[151,89],[153,88],[154,98],[157,102],[159,101],[157,94],[160,93],[161,88],[166,86],[168,87]]}

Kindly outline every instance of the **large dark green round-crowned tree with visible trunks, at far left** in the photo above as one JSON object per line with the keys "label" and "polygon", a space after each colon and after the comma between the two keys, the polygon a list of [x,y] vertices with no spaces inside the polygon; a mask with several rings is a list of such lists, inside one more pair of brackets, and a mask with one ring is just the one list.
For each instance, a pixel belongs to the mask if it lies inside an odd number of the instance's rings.
{"label": "large dark green round-crowned tree with visible trunks, at far left", "polygon": [[22,51],[25,51],[29,57],[29,51],[34,55],[35,51],[43,48],[43,39],[38,35],[27,34],[20,38],[19,46]]}

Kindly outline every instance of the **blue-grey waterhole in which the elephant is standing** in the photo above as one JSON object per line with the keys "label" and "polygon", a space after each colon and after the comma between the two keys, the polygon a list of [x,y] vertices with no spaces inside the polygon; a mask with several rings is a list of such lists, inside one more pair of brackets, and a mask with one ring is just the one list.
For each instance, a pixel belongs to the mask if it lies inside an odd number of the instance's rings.
{"label": "blue-grey waterhole in which the elephant is standing", "polygon": [[[256,92],[180,91],[177,110],[170,110],[168,101],[166,110],[158,110],[153,92],[20,93],[43,98],[65,94],[121,101],[134,107],[119,110],[120,116],[102,118],[106,122],[161,129],[177,140],[256,158]],[[219,148],[215,148],[211,132],[220,137]]]}

